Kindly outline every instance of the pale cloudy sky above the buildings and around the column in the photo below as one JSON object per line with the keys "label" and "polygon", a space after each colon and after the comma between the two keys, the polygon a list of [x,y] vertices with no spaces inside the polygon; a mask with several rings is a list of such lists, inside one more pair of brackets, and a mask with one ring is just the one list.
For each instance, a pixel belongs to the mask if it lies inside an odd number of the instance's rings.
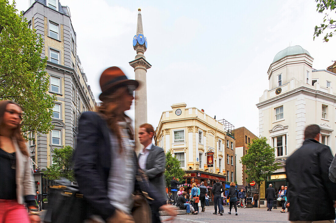
{"label": "pale cloudy sky above the buildings and around the column", "polygon": [[[235,128],[258,135],[259,97],[268,89],[267,70],[281,50],[299,45],[314,58],[313,68],[336,60],[336,37],[315,38],[324,15],[313,0],[274,1],[110,1],[60,0],[69,6],[77,53],[96,101],[99,76],[111,66],[128,78],[136,52],[138,8],[148,41],[148,122],[156,128],[173,103],[204,109]],[[29,0],[17,0],[19,11]],[[127,112],[134,117],[134,107]]]}

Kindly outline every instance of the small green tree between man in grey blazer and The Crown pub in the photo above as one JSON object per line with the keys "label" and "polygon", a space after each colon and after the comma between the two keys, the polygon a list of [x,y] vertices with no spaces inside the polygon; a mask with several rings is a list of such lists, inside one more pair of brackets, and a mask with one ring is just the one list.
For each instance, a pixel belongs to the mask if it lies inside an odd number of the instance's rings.
{"label": "small green tree between man in grey blazer and The Crown pub", "polygon": [[170,187],[170,181],[173,179],[173,176],[178,178],[180,181],[183,180],[182,177],[184,171],[181,168],[180,161],[172,156],[170,150],[166,154],[166,167],[165,167],[165,180],[167,188]]}

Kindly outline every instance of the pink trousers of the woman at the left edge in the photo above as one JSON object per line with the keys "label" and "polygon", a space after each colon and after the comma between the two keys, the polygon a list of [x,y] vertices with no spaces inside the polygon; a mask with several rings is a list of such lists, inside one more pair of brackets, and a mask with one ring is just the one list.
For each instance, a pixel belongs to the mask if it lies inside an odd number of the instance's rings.
{"label": "pink trousers of the woman at the left edge", "polygon": [[25,206],[16,200],[0,199],[0,222],[1,223],[30,223]]}

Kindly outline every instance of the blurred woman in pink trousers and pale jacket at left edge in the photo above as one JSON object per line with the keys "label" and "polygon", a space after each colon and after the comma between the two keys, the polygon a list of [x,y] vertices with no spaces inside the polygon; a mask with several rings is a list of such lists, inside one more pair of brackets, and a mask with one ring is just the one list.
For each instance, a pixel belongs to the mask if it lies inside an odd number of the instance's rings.
{"label": "blurred woman in pink trousers and pale jacket at left edge", "polygon": [[[22,109],[0,101],[0,221],[38,223],[32,165],[21,133]],[[24,206],[27,204],[28,211]]]}

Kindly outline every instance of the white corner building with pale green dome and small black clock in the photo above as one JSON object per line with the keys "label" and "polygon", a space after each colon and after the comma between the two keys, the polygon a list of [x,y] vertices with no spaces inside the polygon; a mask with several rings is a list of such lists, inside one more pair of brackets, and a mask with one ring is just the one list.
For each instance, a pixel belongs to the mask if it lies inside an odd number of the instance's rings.
{"label": "white corner building with pale green dome and small black clock", "polygon": [[300,46],[280,51],[267,71],[269,87],[256,105],[259,135],[275,148],[276,162],[282,167],[268,179],[276,188],[287,183],[285,160],[302,145],[307,125],[320,125],[320,142],[335,154],[336,74],[313,69],[312,63],[309,52]]}

